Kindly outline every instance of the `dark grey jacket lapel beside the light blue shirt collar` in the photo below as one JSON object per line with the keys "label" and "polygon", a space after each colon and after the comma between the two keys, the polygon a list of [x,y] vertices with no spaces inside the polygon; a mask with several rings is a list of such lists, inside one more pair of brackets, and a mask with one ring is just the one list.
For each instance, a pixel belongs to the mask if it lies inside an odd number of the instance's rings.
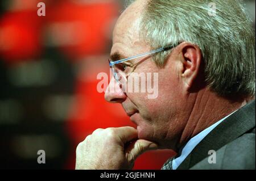
{"label": "dark grey jacket lapel beside the light blue shirt collar", "polygon": [[213,129],[188,155],[177,169],[190,169],[208,157],[209,150],[217,151],[242,134],[255,128],[255,100],[246,104]]}

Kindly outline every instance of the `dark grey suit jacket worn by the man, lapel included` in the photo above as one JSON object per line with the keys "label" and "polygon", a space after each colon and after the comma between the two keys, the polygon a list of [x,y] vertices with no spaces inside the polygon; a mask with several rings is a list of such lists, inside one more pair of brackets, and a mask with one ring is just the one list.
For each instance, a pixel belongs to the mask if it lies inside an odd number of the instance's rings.
{"label": "dark grey suit jacket worn by the man, lapel included", "polygon": [[[216,151],[216,163],[209,150]],[[163,169],[172,169],[172,159]],[[213,129],[177,169],[255,169],[255,100]]]}

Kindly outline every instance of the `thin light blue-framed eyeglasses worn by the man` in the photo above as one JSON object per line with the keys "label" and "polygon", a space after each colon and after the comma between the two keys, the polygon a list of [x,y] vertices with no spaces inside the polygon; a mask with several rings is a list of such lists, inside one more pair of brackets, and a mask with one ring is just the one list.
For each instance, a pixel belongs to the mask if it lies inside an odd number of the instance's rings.
{"label": "thin light blue-framed eyeglasses worn by the man", "polygon": [[123,85],[123,83],[127,82],[127,77],[129,77],[129,74],[133,73],[135,69],[135,65],[124,64],[123,62],[134,60],[135,58],[141,58],[154,53],[167,51],[174,47],[175,46],[168,45],[167,47],[159,48],[147,53],[138,54],[136,56],[124,58],[122,60],[117,60],[117,61],[112,61],[109,59],[109,66],[110,66],[110,69],[112,70],[112,74],[115,78],[115,81],[117,81],[120,85]]}

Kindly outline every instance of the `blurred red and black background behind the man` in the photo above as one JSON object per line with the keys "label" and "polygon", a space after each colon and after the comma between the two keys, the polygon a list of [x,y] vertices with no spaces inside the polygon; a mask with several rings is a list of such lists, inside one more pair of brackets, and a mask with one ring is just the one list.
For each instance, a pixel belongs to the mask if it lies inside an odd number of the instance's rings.
{"label": "blurred red and black background behind the man", "polygon": [[[46,16],[38,16],[38,3]],[[97,128],[135,126],[97,92],[109,74],[122,1],[12,0],[0,4],[0,168],[74,169],[79,142]],[[36,163],[38,150],[47,162]],[[160,169],[174,153],[149,151],[134,169]]]}

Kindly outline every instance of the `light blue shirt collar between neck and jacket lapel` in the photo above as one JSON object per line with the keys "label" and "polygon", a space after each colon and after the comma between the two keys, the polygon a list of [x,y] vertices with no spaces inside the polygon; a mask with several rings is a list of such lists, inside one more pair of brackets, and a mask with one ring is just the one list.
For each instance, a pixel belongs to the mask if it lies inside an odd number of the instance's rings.
{"label": "light blue shirt collar between neck and jacket lapel", "polygon": [[[234,111],[234,112],[236,112],[236,111]],[[232,115],[234,112],[230,113],[230,115]],[[191,153],[191,151],[196,147],[196,145],[198,145],[200,143],[200,141],[202,141],[204,139],[204,137],[207,136],[207,134],[209,134],[215,127],[217,127],[218,124],[220,124],[222,121],[224,121],[230,115],[222,118],[217,123],[214,123],[207,129],[204,129],[204,131],[202,131],[199,134],[197,134],[196,136],[192,137],[187,142],[187,144],[184,146],[184,148],[182,149],[180,156],[175,158],[172,161],[172,169],[176,170],[177,167],[179,167],[179,165],[184,161],[184,159],[187,158],[187,156]]]}

